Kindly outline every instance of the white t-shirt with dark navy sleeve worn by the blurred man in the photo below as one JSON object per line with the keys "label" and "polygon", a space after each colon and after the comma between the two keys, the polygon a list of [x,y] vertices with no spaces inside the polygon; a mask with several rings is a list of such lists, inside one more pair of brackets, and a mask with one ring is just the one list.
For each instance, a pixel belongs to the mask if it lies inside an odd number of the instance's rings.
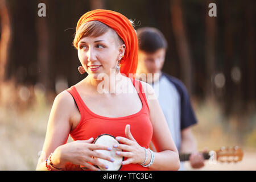
{"label": "white t-shirt with dark navy sleeve worn by the blurred man", "polygon": [[[166,73],[162,73],[159,81],[151,85],[158,96],[172,139],[179,151],[181,130],[197,123],[187,89],[180,80]],[[181,162],[179,170],[184,169],[184,163]]]}

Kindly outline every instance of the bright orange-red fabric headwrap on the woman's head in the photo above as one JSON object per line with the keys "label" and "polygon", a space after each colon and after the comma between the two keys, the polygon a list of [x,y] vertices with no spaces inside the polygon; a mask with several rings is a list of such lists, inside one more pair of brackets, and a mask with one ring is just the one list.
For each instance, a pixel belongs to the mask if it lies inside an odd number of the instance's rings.
{"label": "bright orange-red fabric headwrap on the woman's head", "polygon": [[120,38],[125,42],[126,51],[123,59],[120,61],[120,72],[127,77],[129,73],[136,73],[138,64],[138,40],[137,34],[126,16],[111,10],[92,10],[81,16],[77,22],[76,31],[81,24],[97,20],[113,28]]}

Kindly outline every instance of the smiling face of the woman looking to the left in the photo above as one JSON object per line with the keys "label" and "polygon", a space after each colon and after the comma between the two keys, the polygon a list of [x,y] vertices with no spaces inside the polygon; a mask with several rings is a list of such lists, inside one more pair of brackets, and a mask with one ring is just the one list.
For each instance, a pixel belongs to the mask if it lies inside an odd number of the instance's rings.
{"label": "smiling face of the woman looking to the left", "polygon": [[97,79],[100,73],[110,75],[117,61],[123,55],[122,45],[117,43],[117,35],[109,30],[98,37],[84,37],[78,43],[79,60],[88,75]]}

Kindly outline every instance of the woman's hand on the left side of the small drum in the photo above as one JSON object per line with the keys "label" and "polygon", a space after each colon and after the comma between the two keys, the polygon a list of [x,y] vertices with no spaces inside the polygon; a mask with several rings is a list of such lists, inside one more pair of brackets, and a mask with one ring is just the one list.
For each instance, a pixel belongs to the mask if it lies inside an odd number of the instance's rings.
{"label": "woman's hand on the left side of the small drum", "polygon": [[93,165],[108,169],[108,166],[101,163],[99,160],[95,158],[109,160],[110,162],[114,162],[114,159],[112,159],[110,156],[101,154],[100,152],[97,152],[95,150],[110,151],[112,150],[112,148],[108,146],[94,144],[92,142],[93,138],[90,138],[88,140],[77,140],[75,142],[69,142],[62,146],[59,146],[53,152],[52,163],[58,168],[61,168],[60,166],[65,166],[66,162],[71,162],[73,164],[84,166],[93,171],[99,170],[97,167],[94,167]]}

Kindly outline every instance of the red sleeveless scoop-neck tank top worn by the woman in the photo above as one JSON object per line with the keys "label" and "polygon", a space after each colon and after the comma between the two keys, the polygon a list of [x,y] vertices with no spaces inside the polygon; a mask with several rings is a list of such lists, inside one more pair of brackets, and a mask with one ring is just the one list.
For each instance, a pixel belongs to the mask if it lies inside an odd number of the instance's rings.
{"label": "red sleeveless scoop-neck tank top worn by the woman", "polygon": [[[125,126],[130,125],[130,131],[134,139],[142,147],[148,148],[152,138],[152,125],[150,121],[149,108],[141,81],[132,79],[133,85],[137,90],[142,102],[142,109],[138,113],[125,117],[109,118],[93,113],[82,101],[75,86],[67,89],[76,101],[79,108],[81,119],[79,124],[70,133],[73,140],[87,140],[97,138],[101,134],[110,134],[114,137],[125,137]],[[121,105],[120,105],[121,106]],[[126,160],[126,158],[124,159]],[[127,164],[122,166],[121,170],[136,171],[148,170],[140,164]]]}

